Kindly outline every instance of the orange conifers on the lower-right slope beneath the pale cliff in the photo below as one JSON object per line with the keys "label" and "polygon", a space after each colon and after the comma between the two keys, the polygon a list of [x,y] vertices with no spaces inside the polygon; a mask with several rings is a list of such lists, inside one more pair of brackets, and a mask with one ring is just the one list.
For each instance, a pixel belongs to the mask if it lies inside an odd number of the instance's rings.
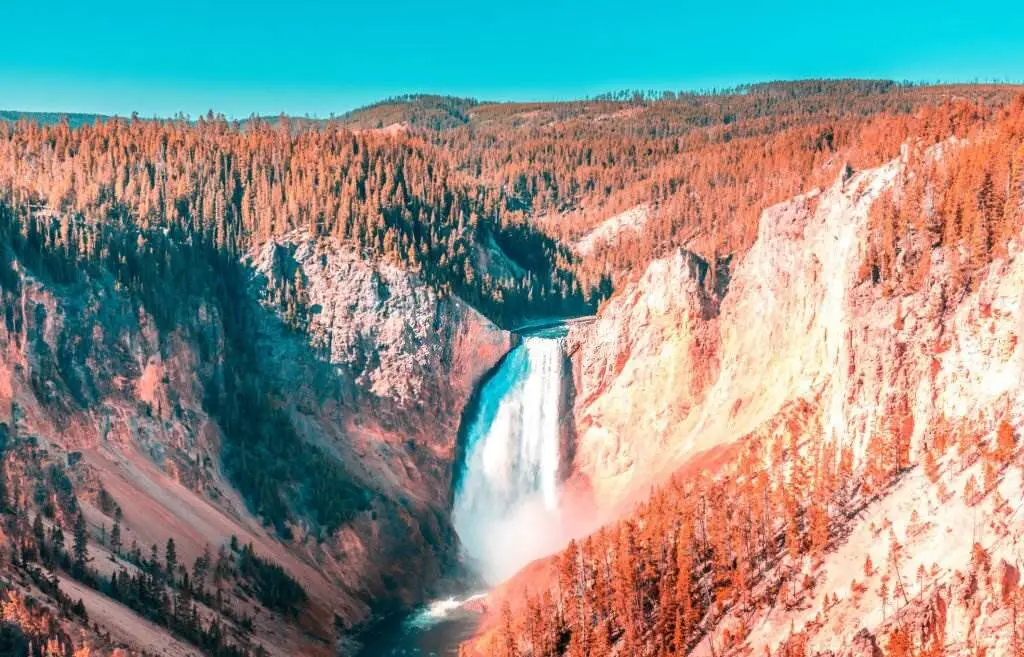
{"label": "orange conifers on the lower-right slope beneath the pale cliff", "polygon": [[[813,432],[798,435],[790,424],[757,432],[714,474],[674,477],[629,518],[571,541],[555,558],[547,585],[503,605],[494,654],[682,656],[700,643],[728,654],[753,627],[740,622],[718,631],[719,623],[727,615],[750,619],[775,606],[805,606],[821,572],[804,564],[820,563],[846,536],[851,519],[911,468],[922,467],[943,498],[963,494],[973,507],[984,496],[997,497],[1007,469],[1020,466],[1018,439],[1006,420],[987,443],[977,431],[937,431],[920,458],[911,458],[905,424],[894,422],[874,434],[860,465],[848,445],[809,439]],[[963,472],[979,459],[983,481],[970,478],[963,493],[946,487],[943,472]],[[1007,508],[1007,500],[997,506]],[[891,531],[886,538],[889,560],[868,559],[864,580],[885,571],[878,594],[884,612],[893,615],[930,574],[902,572],[905,548]],[[987,558],[980,544],[974,552],[976,562]],[[864,580],[855,577],[850,595],[863,595]],[[816,622],[827,617],[834,596],[824,597]],[[1008,604],[1024,611],[1024,589],[1008,596]],[[803,642],[794,633],[772,654],[804,655]],[[941,655],[944,646],[940,633],[911,641],[904,631],[885,654]]]}

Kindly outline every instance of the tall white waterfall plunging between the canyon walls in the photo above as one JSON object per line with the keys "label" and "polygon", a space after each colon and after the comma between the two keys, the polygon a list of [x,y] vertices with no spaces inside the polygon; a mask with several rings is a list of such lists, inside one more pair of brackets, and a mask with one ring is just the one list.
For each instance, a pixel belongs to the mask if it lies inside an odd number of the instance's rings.
{"label": "tall white waterfall plunging between the canyon walls", "polygon": [[453,521],[469,564],[498,583],[560,546],[559,337],[531,336],[480,391]]}

